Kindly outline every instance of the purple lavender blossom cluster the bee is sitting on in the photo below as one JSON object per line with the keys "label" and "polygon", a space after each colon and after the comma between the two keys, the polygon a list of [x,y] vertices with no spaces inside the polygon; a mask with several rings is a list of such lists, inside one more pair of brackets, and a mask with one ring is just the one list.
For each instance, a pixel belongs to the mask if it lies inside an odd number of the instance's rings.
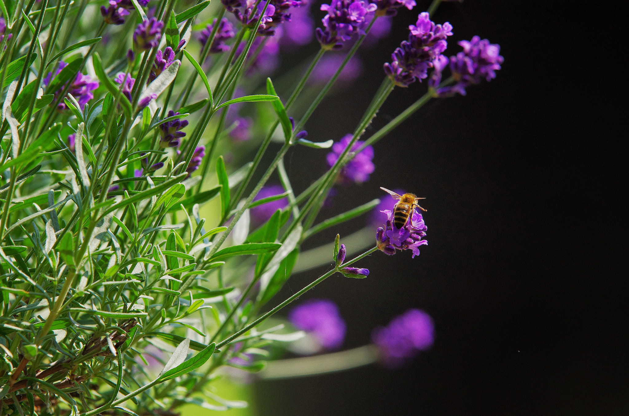
{"label": "purple lavender blossom cluster the bee is sitting on", "polygon": [[384,214],[387,215],[387,222],[384,228],[379,227],[376,230],[376,244],[378,249],[386,255],[394,255],[396,250],[411,250],[413,255],[411,258],[420,255],[420,246],[428,245],[428,241],[421,238],[426,236],[428,227],[424,223],[421,214],[415,209],[403,227],[398,228],[393,222],[393,214],[391,210],[385,209]]}

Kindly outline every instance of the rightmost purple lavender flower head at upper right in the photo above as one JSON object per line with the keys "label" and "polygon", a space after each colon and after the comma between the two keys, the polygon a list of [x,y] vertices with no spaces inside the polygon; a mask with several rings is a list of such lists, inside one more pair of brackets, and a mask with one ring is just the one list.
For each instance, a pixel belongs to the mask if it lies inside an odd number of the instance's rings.
{"label": "rightmost purple lavender flower head at upper right", "polygon": [[463,48],[463,52],[450,57],[449,61],[452,77],[457,81],[455,85],[435,90],[441,82],[448,58],[442,57],[439,62],[435,62],[435,72],[428,84],[435,97],[451,97],[457,93],[464,96],[467,94],[465,89],[470,85],[480,84],[483,79],[489,82],[496,78],[496,71],[504,62],[504,58],[499,55],[500,45],[489,43],[487,39],[481,40],[479,36],[474,36],[470,41],[459,41],[459,45]]}

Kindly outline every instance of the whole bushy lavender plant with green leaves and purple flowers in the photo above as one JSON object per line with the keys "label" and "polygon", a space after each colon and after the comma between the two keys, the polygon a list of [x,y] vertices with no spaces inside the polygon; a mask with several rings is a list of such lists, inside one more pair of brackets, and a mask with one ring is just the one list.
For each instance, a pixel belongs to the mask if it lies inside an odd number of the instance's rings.
{"label": "whole bushy lavender plant with green leaves and purple flowers", "polygon": [[[390,28],[384,19],[415,1],[334,0],[316,30],[301,0],[0,6],[0,416],[227,410],[243,403],[211,391],[226,366],[255,373],[270,347],[309,334],[318,351],[339,348],[345,323],[334,305],[273,316],[332,275],[369,276],[355,263],[375,251],[414,257],[427,243],[418,212],[394,225],[388,196],[317,222],[333,186],[366,182],[377,141],[431,98],[493,79],[503,62],[478,36],[448,59],[452,26],[420,13],[355,131],[311,141],[304,126],[370,30]],[[278,92],[263,76],[277,48],[313,35],[319,52],[292,90]],[[343,48],[343,58],[330,55]],[[395,87],[429,72],[425,96],[359,140]],[[309,99],[313,74],[325,85]],[[274,140],[282,146],[264,166]],[[331,148],[328,170],[299,195],[284,169],[292,146]],[[274,172],[281,185],[267,184]],[[352,246],[364,253],[346,260],[356,253],[337,235],[323,261],[298,262],[306,239],[377,205],[379,223],[346,240],[358,238]],[[293,273],[322,263],[333,267],[276,299]],[[360,362],[397,365],[431,343],[432,328],[423,312],[408,312],[374,332]]]}

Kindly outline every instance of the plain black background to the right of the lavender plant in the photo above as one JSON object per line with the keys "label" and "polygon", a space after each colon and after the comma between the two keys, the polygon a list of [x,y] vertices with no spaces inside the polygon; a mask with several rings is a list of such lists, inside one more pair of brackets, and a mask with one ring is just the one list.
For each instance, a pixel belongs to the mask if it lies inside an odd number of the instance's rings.
{"label": "plain black background to the right of the lavender plant", "polygon": [[[309,138],[353,131],[382,63],[427,6],[418,0],[401,11],[391,35],[361,53],[362,77],[323,103]],[[406,189],[428,197],[430,244],[413,260],[374,253],[359,263],[369,278],[337,276],[302,299],[337,302],[348,324],[343,348],[369,342],[374,326],[411,307],[435,320],[435,344],[395,371],[372,365],[259,381],[261,415],[629,413],[628,285],[618,261],[626,185],[616,183],[626,132],[615,129],[626,118],[623,16],[613,1],[440,5],[433,19],[454,26],[447,55],[460,50],[458,40],[488,38],[505,59],[498,78],[467,97],[432,100],[376,145],[369,182],[343,189],[321,216],[381,197],[380,186]],[[396,89],[374,128],[425,90],[425,82]],[[303,190],[325,169],[325,151],[294,152],[287,169]],[[293,276],[281,296],[326,270]]]}

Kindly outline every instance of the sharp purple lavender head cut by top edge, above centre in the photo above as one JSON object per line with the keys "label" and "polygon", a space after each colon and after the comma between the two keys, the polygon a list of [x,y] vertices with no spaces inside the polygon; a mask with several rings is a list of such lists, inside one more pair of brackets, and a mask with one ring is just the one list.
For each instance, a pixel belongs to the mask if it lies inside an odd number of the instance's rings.
{"label": "sharp purple lavender head cut by top edge, above centre", "polygon": [[328,12],[321,19],[325,30],[316,29],[316,38],[321,47],[337,50],[353,35],[364,35],[364,28],[376,9],[376,4],[366,0],[332,0],[330,4],[321,4],[321,10]]}

